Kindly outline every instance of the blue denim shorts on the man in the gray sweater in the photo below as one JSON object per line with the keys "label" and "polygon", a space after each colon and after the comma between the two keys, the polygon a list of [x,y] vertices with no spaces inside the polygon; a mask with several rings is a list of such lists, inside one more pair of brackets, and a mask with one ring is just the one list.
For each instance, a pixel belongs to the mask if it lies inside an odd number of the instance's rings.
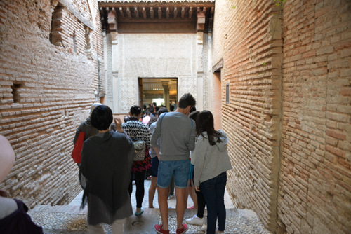
{"label": "blue denim shorts on the man in the gray sweater", "polygon": [[186,188],[189,179],[190,160],[160,161],[157,186],[168,188],[174,174],[176,188]]}

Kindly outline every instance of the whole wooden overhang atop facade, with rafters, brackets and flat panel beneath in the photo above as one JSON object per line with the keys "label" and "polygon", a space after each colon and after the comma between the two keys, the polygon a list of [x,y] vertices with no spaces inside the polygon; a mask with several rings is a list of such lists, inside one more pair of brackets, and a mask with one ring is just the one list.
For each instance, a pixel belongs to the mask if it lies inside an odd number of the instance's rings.
{"label": "whole wooden overhang atop facade, with rafters, brackets and flat panel beneath", "polygon": [[211,32],[214,1],[99,1],[105,32]]}

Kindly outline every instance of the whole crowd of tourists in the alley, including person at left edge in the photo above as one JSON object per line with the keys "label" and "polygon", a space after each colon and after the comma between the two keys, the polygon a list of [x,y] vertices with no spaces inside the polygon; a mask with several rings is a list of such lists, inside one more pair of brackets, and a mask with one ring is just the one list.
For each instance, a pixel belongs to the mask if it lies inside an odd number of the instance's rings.
{"label": "whole crowd of tourists in the alley, including person at left edge", "polygon": [[[89,117],[77,128],[72,153],[84,188],[81,208],[88,206],[89,233],[104,233],[102,223],[110,224],[113,234],[124,233],[124,223],[133,215],[133,182],[134,215],[142,216],[147,177],[151,177],[149,208],[154,208],[154,195],[158,193],[161,224],[154,225],[157,233],[170,233],[168,199],[173,198],[174,187],[177,234],[187,232],[187,224],[199,225],[207,234],[224,233],[226,171],[232,168],[227,136],[222,130],[214,129],[210,111],[196,111],[195,105],[190,93],[179,99],[175,111],[174,106],[168,111],[155,103],[143,109],[134,105],[128,116],[124,116],[124,123],[113,117],[110,107],[100,103],[91,106]],[[1,148],[9,146],[5,137],[1,136],[0,140]],[[6,177],[13,165],[13,160],[6,159],[14,158],[13,151],[9,152],[1,150],[0,179]],[[9,163],[4,163],[7,161]],[[189,195],[197,214],[183,223]],[[26,217],[27,223],[22,225],[30,226],[32,233],[42,233],[42,229],[31,222],[20,201],[2,195],[0,206],[4,204],[8,209],[0,210],[0,233],[11,233],[5,229],[3,232],[1,223],[11,219],[8,217],[13,212]]]}

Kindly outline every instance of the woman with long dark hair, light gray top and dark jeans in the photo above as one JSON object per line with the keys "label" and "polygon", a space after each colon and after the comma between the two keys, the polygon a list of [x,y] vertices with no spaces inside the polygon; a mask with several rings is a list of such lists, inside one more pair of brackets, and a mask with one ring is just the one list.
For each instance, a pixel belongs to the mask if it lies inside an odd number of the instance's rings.
{"label": "woman with long dark hair, light gray top and dark jeans", "polygon": [[227,135],[216,131],[211,111],[197,115],[197,142],[192,155],[194,186],[202,191],[207,205],[207,234],[214,234],[218,220],[218,233],[225,230],[224,193],[227,170],[232,169],[227,151]]}

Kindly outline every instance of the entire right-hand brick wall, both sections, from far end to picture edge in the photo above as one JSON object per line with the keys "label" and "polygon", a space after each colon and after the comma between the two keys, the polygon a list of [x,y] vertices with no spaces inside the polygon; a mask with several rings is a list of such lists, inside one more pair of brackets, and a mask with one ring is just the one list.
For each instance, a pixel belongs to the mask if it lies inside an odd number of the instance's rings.
{"label": "entire right-hand brick wall, both sections, from far end to picture edge", "polygon": [[216,1],[228,188],[272,232],[348,233],[351,6],[274,3]]}

